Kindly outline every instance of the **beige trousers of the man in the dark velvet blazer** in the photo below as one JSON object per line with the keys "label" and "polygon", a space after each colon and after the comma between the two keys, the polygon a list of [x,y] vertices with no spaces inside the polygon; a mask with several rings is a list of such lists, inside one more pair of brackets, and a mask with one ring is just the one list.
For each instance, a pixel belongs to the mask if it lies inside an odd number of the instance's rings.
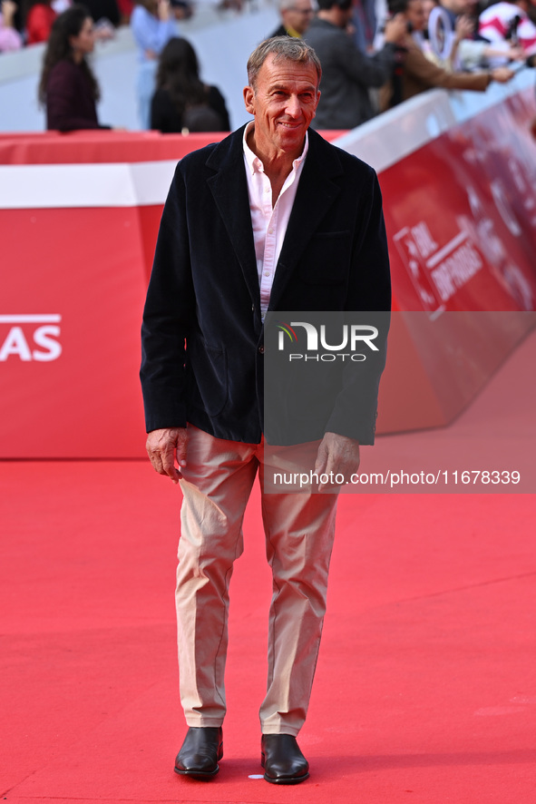
{"label": "beige trousers of the man in the dark velvet blazer", "polygon": [[264,494],[263,444],[225,441],[190,426],[180,481],[180,700],[189,726],[221,725],[229,582],[243,550],[242,520],[257,471],[273,575],[261,730],[296,736],[307,715],[326,611],[336,494]]}

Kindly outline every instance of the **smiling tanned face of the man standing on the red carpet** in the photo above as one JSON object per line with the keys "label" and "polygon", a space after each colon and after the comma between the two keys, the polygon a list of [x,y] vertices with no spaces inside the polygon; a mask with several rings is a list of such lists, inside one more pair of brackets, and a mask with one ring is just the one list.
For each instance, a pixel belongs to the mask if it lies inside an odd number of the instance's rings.
{"label": "smiling tanned face of the man standing on the red carpet", "polygon": [[263,152],[301,152],[320,93],[313,64],[269,54],[258,72],[255,90],[244,90],[246,109],[255,117],[255,142]]}

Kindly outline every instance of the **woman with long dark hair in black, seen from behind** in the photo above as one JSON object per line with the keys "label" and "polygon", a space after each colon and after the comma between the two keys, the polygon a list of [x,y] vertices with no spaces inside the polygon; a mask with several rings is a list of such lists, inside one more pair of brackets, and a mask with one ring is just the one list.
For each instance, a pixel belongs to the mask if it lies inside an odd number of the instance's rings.
{"label": "woman with long dark hair in black, seen from behind", "polygon": [[229,132],[229,113],[218,87],[200,79],[197,55],[187,39],[164,47],[151,101],[151,128],[162,133]]}

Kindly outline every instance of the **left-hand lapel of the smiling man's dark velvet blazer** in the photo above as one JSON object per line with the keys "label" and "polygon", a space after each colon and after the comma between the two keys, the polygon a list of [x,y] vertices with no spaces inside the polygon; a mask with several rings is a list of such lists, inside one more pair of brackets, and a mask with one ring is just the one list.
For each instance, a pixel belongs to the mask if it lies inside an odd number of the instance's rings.
{"label": "left-hand lapel of the smiling man's dark velvet blazer", "polygon": [[207,166],[215,173],[207,183],[239,260],[251,299],[259,305],[257,260],[242,150],[243,131],[244,127],[220,142],[211,152]]}

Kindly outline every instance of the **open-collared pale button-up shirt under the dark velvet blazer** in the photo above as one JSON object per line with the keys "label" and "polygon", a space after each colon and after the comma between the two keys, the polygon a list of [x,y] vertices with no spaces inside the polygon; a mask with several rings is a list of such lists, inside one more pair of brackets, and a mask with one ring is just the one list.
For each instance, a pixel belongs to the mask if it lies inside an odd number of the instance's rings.
{"label": "open-collared pale button-up shirt under the dark velvet blazer", "polygon": [[249,123],[244,131],[244,163],[248,178],[249,210],[251,211],[257,259],[260,312],[264,321],[279,254],[287,233],[288,219],[296,198],[297,184],[307,156],[308,138],[306,133],[304,150],[301,156],[292,162],[292,170],[288,173],[278,200],[272,207],[270,180],[264,172],[263,163],[251,151],[247,142],[248,133],[253,125],[255,123]]}

